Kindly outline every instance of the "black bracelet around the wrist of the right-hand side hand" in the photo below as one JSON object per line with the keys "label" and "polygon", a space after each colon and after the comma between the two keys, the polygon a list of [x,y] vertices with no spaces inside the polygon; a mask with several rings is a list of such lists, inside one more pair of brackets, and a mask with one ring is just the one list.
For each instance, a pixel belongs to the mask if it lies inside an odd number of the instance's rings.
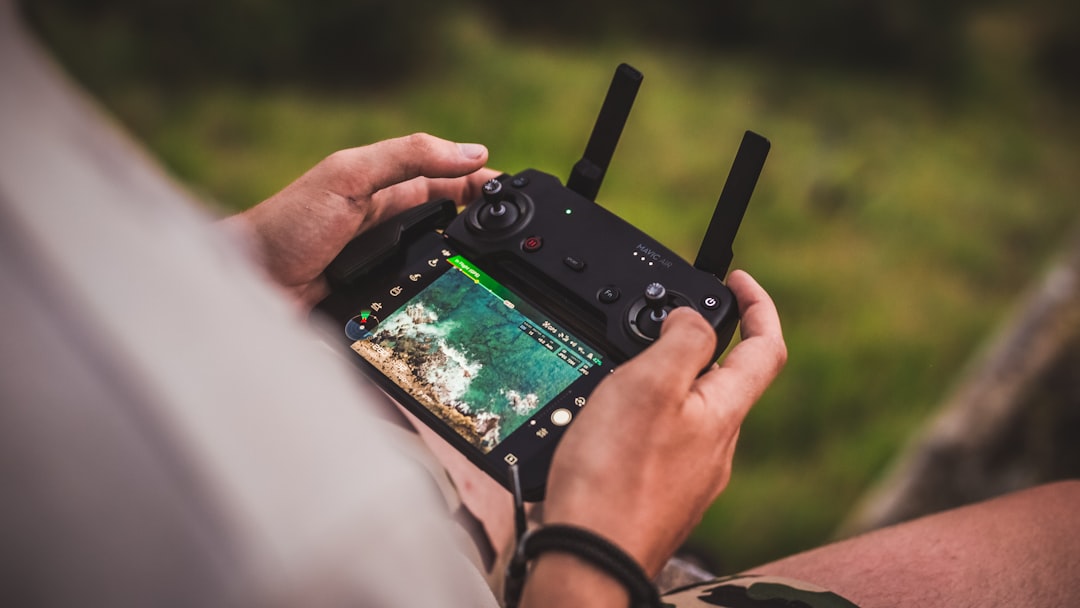
{"label": "black bracelet around the wrist of the right-hand side hand", "polygon": [[659,608],[660,594],[633,557],[606,538],[575,526],[552,525],[525,535],[518,553],[525,562],[549,551],[569,553],[604,570],[630,593],[630,606]]}

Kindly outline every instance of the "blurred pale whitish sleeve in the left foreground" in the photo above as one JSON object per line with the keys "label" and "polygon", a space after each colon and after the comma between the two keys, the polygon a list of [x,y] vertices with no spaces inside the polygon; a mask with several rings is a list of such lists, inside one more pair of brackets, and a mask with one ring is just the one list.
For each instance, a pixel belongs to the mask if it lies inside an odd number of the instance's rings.
{"label": "blurred pale whitish sleeve in the left foreground", "polygon": [[[0,0],[12,605],[496,606],[381,398]],[[10,491],[9,491],[10,490]],[[6,604],[6,602],[0,602]]]}

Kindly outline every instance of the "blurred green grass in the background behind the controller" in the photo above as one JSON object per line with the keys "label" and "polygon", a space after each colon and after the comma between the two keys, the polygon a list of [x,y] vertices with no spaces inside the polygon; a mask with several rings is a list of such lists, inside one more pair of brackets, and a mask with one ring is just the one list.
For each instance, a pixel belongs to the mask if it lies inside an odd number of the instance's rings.
{"label": "blurred green grass in the background behind the controller", "polygon": [[743,130],[768,136],[735,267],[775,298],[789,363],[693,537],[723,571],[829,539],[1077,220],[1078,119],[1022,72],[942,97],[753,57],[509,43],[468,14],[447,27],[441,69],[390,89],[94,89],[228,212],[414,131],[565,177],[625,60],[646,80],[599,201],[690,259]]}

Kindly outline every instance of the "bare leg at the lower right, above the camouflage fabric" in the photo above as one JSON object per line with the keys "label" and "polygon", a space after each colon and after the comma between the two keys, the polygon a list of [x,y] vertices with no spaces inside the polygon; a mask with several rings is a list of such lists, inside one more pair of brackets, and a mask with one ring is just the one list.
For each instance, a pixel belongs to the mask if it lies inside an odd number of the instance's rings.
{"label": "bare leg at the lower right, above the camouflage fabric", "polygon": [[863,608],[1080,606],[1080,482],[928,515],[766,564]]}

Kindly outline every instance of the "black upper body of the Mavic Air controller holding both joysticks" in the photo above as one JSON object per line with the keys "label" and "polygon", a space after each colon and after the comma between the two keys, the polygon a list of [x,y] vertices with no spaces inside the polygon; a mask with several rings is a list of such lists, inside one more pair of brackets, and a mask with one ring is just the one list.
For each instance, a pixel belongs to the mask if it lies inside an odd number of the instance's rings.
{"label": "black upper body of the Mavic Air controller holding both joysticks", "polygon": [[[555,176],[528,170],[499,181],[500,202],[516,207],[517,221],[489,227],[486,212],[497,203],[480,199],[445,232],[474,261],[515,283],[619,362],[659,336],[662,321],[654,317],[683,306],[713,325],[717,356],[727,347],[739,322],[738,305],[718,278]],[[665,291],[652,307],[645,296],[651,284]]]}

